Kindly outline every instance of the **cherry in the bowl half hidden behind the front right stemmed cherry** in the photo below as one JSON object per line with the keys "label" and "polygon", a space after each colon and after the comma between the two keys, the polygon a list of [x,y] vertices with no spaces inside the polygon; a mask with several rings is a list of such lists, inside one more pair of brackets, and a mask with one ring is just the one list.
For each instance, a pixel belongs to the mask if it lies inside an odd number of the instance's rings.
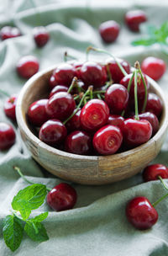
{"label": "cherry in the bowl half hidden behind the front right stemmed cherry", "polygon": [[160,124],[155,114],[151,112],[144,112],[142,114],[139,114],[139,120],[148,120],[150,122],[150,125],[152,125],[152,135],[155,135],[155,133],[159,130]]}

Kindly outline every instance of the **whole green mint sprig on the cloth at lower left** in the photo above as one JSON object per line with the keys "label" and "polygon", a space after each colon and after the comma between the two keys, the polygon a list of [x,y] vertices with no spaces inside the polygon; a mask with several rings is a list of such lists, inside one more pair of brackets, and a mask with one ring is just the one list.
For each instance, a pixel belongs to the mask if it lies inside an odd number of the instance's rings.
{"label": "whole green mint sprig on the cloth at lower left", "polygon": [[13,252],[20,246],[24,232],[34,241],[44,242],[49,239],[41,223],[48,216],[48,212],[29,218],[31,211],[44,203],[46,194],[47,188],[44,184],[33,184],[19,190],[14,196],[11,204],[13,214],[6,216],[3,221],[3,238]]}

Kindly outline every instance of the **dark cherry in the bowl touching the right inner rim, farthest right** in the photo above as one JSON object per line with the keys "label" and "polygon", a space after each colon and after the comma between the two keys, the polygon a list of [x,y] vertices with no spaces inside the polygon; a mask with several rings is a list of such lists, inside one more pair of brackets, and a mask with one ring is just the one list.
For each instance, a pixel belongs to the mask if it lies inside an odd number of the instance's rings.
{"label": "dark cherry in the bowl touching the right inner rim, farthest right", "polygon": [[145,111],[152,112],[156,116],[160,116],[163,109],[163,104],[158,95],[155,93],[148,93],[148,99]]}

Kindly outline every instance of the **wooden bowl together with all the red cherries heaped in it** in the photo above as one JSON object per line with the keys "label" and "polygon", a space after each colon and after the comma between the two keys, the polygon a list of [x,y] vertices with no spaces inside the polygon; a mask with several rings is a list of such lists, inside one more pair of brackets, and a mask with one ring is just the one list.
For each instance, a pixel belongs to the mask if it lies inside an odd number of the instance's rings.
{"label": "wooden bowl together with all the red cherries heaped in it", "polygon": [[145,168],[168,126],[165,95],[136,61],[66,61],[18,96],[21,136],[43,168],[79,184],[109,184]]}

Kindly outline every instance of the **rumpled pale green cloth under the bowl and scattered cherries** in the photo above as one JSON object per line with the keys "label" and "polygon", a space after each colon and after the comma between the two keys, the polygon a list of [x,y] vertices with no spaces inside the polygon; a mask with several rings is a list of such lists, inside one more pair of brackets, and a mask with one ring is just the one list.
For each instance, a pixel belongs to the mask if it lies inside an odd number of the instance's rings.
{"label": "rumpled pale green cloth under the bowl and scattered cherries", "polygon": [[[46,3],[47,2],[47,3]],[[161,4],[162,3],[162,4]],[[34,5],[36,8],[34,8]],[[95,45],[112,51],[115,56],[122,56],[134,64],[145,56],[160,56],[167,63],[167,56],[160,47],[150,48],[130,45],[130,41],[139,37],[131,33],[123,24],[123,14],[128,9],[142,8],[148,14],[151,24],[161,24],[167,19],[167,1],[54,1],[54,0],[15,0],[0,1],[0,26],[15,24],[23,36],[0,43],[0,88],[8,93],[18,93],[25,81],[18,78],[15,66],[24,55],[39,58],[40,70],[63,61],[63,53],[85,60],[88,45]],[[102,21],[115,19],[121,24],[118,40],[113,45],[104,45],[97,33]],[[50,42],[42,49],[37,49],[32,39],[32,28],[46,25],[50,31]],[[95,60],[105,60],[106,56],[93,55]],[[160,80],[160,87],[167,93],[168,75]],[[3,113],[5,97],[0,95],[0,121],[10,123]],[[15,124],[13,124],[15,125]],[[15,125],[17,141],[7,152],[0,152],[0,228],[3,218],[11,210],[11,201],[19,189],[26,184],[19,179],[13,165],[18,165],[29,179],[36,183],[53,187],[60,179],[40,168],[30,157]],[[168,146],[165,141],[155,163],[167,164]],[[24,236],[20,248],[11,253],[0,235],[1,256],[78,256],[78,255],[115,255],[115,256],[159,256],[168,255],[168,199],[157,206],[159,221],[148,231],[135,230],[125,217],[125,205],[137,195],[144,195],[151,202],[165,195],[160,181],[144,184],[141,174],[131,179],[104,186],[82,186],[73,184],[78,200],[70,211],[51,211],[48,205],[42,205],[34,211],[50,211],[44,221],[50,240],[45,243],[32,242]]]}

